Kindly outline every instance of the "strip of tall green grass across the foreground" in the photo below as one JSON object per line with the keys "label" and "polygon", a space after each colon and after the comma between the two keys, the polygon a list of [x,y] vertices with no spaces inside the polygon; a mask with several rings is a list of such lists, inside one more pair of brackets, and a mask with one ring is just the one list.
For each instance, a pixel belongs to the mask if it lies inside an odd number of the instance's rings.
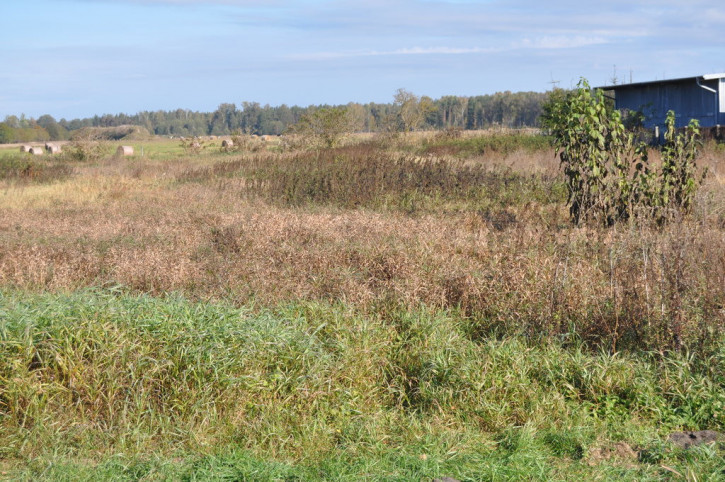
{"label": "strip of tall green grass across the foreground", "polygon": [[472,323],[6,289],[0,479],[725,478],[722,446],[665,442],[723,429],[725,345],[610,355]]}

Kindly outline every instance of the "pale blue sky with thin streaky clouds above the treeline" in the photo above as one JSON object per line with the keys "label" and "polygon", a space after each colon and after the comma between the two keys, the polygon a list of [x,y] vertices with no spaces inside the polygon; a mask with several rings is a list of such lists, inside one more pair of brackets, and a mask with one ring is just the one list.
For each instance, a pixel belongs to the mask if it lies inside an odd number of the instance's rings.
{"label": "pale blue sky with thin streaky clouds above the treeline", "polygon": [[701,0],[0,0],[0,120],[725,72]]}

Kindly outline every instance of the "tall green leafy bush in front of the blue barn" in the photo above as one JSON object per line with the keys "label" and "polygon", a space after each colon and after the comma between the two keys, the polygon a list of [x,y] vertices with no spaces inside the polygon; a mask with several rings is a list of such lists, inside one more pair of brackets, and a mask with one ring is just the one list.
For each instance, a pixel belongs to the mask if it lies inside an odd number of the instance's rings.
{"label": "tall green leafy bush in front of the blue barn", "polygon": [[661,224],[690,211],[702,181],[695,165],[696,120],[678,134],[675,114],[668,112],[659,170],[650,168],[647,146],[635,142],[621,114],[608,108],[602,92],[592,92],[585,80],[551,106],[547,126],[564,167],[575,224],[593,221],[611,226],[635,217]]}

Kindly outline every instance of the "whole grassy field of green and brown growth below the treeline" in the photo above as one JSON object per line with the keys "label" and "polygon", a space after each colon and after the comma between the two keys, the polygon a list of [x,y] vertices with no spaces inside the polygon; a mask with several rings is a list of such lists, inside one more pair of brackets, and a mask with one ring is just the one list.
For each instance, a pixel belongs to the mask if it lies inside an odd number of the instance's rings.
{"label": "whole grassy field of green and brown growth below the treeline", "polygon": [[529,134],[134,147],[0,149],[0,479],[725,478],[720,146],[610,229]]}

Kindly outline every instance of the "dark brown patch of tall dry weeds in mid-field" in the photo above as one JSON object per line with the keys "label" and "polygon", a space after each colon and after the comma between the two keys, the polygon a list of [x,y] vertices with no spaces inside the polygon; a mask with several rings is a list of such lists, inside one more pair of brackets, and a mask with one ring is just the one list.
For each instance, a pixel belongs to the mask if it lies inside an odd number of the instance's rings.
{"label": "dark brown patch of tall dry weeds in mid-field", "polygon": [[555,203],[564,185],[553,176],[510,166],[460,162],[399,152],[370,144],[282,155],[242,156],[189,169],[181,182],[243,180],[240,194],[278,206],[328,205],[441,212],[490,204]]}

